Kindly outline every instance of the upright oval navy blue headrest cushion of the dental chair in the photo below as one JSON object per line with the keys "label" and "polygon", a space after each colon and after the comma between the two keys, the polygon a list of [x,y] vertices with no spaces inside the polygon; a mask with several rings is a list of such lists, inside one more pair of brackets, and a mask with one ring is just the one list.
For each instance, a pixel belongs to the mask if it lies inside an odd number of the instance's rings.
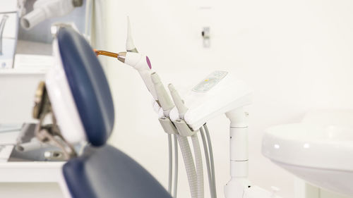
{"label": "upright oval navy blue headrest cushion of the dental chair", "polygon": [[114,126],[114,105],[107,78],[90,44],[69,27],[57,34],[61,61],[80,120],[93,146],[105,144]]}

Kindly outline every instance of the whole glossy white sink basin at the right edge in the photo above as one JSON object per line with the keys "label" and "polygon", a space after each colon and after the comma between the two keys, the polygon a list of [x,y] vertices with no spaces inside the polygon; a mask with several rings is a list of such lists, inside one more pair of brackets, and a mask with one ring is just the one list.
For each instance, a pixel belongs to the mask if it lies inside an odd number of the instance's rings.
{"label": "whole glossy white sink basin at the right edge", "polygon": [[313,185],[353,195],[353,111],[314,111],[269,128],[262,152]]}

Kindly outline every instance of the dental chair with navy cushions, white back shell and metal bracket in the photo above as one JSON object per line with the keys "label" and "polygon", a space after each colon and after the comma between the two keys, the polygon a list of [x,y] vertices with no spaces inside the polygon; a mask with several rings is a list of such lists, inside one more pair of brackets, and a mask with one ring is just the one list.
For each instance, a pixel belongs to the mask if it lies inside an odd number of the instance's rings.
{"label": "dental chair with navy cushions, white back shell and metal bracket", "polygon": [[[107,144],[114,126],[114,105],[107,78],[88,42],[71,28],[62,27],[54,40],[54,58],[42,89],[50,108],[37,116],[42,119],[52,113],[54,128],[39,126],[36,135],[44,142],[61,137],[56,144],[69,145],[63,146],[66,153],[67,148],[88,142],[83,154],[71,151],[62,167],[61,187],[66,197],[171,198],[148,171]],[[55,130],[56,123],[59,130]]]}

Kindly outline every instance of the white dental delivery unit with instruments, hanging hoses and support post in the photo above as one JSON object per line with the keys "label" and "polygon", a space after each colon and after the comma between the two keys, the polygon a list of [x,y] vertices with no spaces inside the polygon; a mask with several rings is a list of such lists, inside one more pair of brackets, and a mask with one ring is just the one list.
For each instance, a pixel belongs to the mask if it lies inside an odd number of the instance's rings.
{"label": "white dental delivery unit with instruments, hanging hoses and support post", "polygon": [[[191,197],[204,197],[203,162],[198,133],[201,134],[203,140],[208,180],[210,182],[210,195],[211,197],[217,197],[213,151],[206,123],[211,118],[221,114],[225,114],[230,120],[229,163],[231,179],[225,185],[225,197],[277,197],[275,194],[276,187],[273,187],[274,192],[268,192],[256,185],[252,185],[247,179],[249,169],[248,113],[244,111],[243,107],[251,104],[251,89],[243,81],[234,78],[232,74],[217,70],[193,87],[184,99],[179,96],[174,86],[169,84],[171,99],[160,77],[152,71],[148,56],[139,54],[133,44],[129,20],[127,35],[126,52],[115,54],[109,51],[95,50],[95,53],[97,55],[112,56],[138,70],[148,91],[155,99],[153,106],[158,113],[164,132],[168,134],[169,155],[172,153],[170,151],[172,142],[170,135],[174,136],[175,144],[179,142],[186,173],[188,174]],[[205,136],[208,141],[206,141]],[[188,137],[191,137],[193,144],[196,166],[187,140]],[[172,179],[170,178],[170,175],[172,175],[172,163],[170,160],[171,156],[169,156],[169,193],[172,187]],[[176,197],[177,175],[174,176],[174,197]]]}

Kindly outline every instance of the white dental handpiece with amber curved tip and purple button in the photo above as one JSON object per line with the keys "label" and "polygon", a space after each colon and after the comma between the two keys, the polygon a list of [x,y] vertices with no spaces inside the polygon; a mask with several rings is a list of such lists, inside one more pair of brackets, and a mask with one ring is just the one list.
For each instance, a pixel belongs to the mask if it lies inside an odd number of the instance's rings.
{"label": "white dental handpiece with amber curved tip and purple button", "polygon": [[114,58],[118,58],[118,60],[121,61],[121,63],[126,63],[128,66],[131,66],[136,70],[138,70],[138,73],[140,73],[140,76],[143,79],[143,82],[145,82],[145,85],[148,91],[152,94],[155,101],[158,101],[158,97],[155,92],[155,87],[151,79],[151,74],[153,72],[152,72],[152,66],[150,63],[150,58],[148,58],[148,56],[145,56],[140,53],[128,52],[128,51],[119,52],[118,54],[110,51],[101,51],[101,50],[94,50],[94,51],[97,56],[104,55],[104,56],[111,56]]}

